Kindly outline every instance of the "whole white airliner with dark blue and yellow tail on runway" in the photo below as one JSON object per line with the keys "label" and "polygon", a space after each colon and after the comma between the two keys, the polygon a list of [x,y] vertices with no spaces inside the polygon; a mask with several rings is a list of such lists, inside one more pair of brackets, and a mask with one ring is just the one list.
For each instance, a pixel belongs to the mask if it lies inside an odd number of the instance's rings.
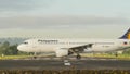
{"label": "whole white airliner with dark blue and yellow tail on runway", "polygon": [[130,48],[130,29],[119,39],[28,39],[17,49],[25,52],[55,52],[56,57],[83,52],[110,52]]}

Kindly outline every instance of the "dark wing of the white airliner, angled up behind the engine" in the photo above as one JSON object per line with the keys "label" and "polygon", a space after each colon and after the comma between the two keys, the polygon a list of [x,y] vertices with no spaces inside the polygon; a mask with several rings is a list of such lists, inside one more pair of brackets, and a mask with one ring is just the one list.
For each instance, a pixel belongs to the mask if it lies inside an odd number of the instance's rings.
{"label": "dark wing of the white airliner, angled up behind the engine", "polygon": [[83,52],[84,49],[91,48],[92,45],[93,45],[93,44],[88,44],[88,45],[78,46],[78,47],[72,47],[72,48],[68,49],[69,54],[72,54],[72,53],[80,53],[80,52]]}

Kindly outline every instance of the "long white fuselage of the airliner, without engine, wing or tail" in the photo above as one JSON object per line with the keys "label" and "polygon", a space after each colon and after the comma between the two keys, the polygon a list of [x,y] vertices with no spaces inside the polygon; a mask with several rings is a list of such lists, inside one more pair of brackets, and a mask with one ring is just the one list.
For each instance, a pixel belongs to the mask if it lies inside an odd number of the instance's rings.
{"label": "long white fuselage of the airliner, without engine, wing or tail", "polygon": [[107,52],[130,47],[128,39],[29,39],[18,48],[26,52],[55,52],[56,49],[69,49],[88,44],[92,44],[92,47],[84,49],[84,52]]}

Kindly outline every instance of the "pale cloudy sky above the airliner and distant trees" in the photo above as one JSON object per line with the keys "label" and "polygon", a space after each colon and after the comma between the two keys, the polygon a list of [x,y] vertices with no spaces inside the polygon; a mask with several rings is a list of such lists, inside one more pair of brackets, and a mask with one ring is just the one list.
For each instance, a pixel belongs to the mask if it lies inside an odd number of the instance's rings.
{"label": "pale cloudy sky above the airliner and distant trees", "polygon": [[118,38],[130,0],[0,0],[0,37]]}

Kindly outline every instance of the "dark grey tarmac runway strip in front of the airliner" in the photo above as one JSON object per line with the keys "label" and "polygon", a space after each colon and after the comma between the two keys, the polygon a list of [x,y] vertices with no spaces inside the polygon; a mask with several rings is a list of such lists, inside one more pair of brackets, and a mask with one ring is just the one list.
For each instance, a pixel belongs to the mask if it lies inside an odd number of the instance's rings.
{"label": "dark grey tarmac runway strip in front of the airliner", "polygon": [[0,70],[130,70],[130,60],[0,60]]}

